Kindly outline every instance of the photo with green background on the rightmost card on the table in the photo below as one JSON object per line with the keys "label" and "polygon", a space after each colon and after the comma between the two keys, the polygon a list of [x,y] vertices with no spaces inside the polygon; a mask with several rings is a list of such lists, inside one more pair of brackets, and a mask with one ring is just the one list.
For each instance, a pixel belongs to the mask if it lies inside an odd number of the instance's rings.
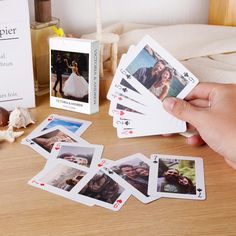
{"label": "photo with green background on the rightmost card on the table", "polygon": [[194,160],[160,158],[157,192],[196,194]]}

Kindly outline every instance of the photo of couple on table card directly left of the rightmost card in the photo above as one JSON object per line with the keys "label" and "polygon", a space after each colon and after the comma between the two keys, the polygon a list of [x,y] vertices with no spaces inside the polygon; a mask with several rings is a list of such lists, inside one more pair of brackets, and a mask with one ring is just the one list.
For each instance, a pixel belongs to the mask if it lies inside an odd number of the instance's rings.
{"label": "photo of couple on table card directly left of the rightmost card", "polygon": [[111,168],[139,192],[148,196],[149,166],[139,158],[125,160]]}

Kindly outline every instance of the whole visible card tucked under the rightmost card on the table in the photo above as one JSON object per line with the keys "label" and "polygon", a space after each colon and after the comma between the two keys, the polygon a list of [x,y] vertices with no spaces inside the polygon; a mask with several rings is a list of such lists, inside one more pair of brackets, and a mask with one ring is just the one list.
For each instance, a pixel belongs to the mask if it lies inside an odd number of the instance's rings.
{"label": "whole visible card tucked under the rightmost card on the table", "polygon": [[132,195],[143,203],[149,203],[159,197],[148,195],[150,160],[137,153],[104,167],[109,176],[120,176],[120,184],[129,189]]}

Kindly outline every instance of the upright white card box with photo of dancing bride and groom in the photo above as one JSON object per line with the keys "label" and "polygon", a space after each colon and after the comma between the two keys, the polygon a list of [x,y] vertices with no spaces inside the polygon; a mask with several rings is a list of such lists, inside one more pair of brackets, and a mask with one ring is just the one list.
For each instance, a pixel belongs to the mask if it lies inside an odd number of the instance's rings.
{"label": "upright white card box with photo of dancing bride and groom", "polygon": [[[49,45],[50,106],[85,114],[98,112],[99,41],[54,37],[49,39]],[[60,66],[57,66],[58,55]],[[73,73],[73,62],[77,63],[78,74]],[[61,86],[58,68],[62,68]]]}

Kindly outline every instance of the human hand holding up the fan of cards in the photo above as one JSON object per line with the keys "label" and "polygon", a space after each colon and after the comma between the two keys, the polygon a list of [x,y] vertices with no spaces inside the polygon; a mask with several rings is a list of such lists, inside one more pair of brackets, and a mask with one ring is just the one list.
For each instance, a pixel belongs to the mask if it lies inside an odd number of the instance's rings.
{"label": "human hand holding up the fan of cards", "polygon": [[236,85],[200,83],[185,100],[169,97],[163,106],[195,127],[200,137],[236,169]]}

